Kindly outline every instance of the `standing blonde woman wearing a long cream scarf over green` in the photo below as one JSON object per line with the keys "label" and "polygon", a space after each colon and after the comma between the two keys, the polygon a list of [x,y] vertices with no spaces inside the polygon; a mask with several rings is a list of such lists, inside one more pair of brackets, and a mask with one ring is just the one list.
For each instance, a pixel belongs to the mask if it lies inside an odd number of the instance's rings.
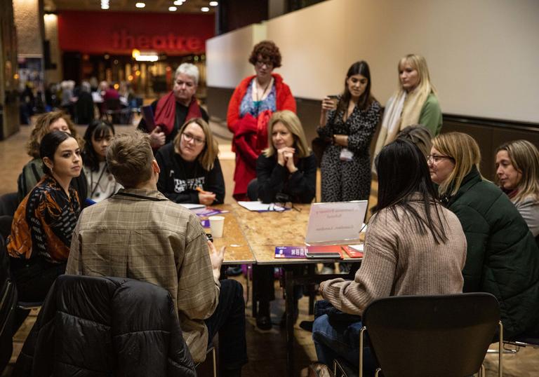
{"label": "standing blonde woman wearing a long cream scarf over green", "polygon": [[375,156],[382,146],[397,138],[408,125],[420,123],[432,135],[441,130],[441,109],[437,91],[430,82],[425,57],[409,54],[399,60],[399,89],[385,105],[382,128],[376,142]]}

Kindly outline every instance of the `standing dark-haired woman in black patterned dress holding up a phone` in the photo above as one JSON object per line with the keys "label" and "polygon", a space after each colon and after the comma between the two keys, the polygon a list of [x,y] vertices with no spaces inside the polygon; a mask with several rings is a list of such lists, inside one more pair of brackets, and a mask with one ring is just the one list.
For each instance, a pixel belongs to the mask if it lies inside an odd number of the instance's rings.
{"label": "standing dark-haired woman in black patterned dress holding up a phone", "polygon": [[371,94],[367,62],[348,69],[345,89],[335,103],[322,101],[318,135],[331,139],[321,161],[323,202],[366,200],[371,191],[369,146],[380,121],[380,103]]}

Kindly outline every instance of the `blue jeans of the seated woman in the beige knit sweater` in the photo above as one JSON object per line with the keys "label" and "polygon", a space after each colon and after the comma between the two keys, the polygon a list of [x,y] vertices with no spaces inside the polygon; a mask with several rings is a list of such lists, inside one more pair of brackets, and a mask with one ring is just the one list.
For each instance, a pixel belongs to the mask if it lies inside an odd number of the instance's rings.
{"label": "blue jeans of the seated woman in the beige knit sweater", "polygon": [[[334,359],[344,359],[348,364],[359,367],[359,332],[361,322],[343,322],[331,320],[327,314],[321,315],[312,325],[312,340],[320,362],[333,367]],[[376,369],[376,362],[371,353],[368,336],[364,337],[363,372],[371,376]]]}

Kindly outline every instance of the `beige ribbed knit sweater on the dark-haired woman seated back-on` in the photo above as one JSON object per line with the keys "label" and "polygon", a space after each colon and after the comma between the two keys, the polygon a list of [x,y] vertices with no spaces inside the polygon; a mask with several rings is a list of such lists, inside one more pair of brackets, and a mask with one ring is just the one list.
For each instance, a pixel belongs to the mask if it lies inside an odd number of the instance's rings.
{"label": "beige ribbed knit sweater on the dark-haired woman seated back-on", "polygon": [[[413,205],[426,219],[422,203]],[[453,212],[441,206],[438,209],[448,236],[448,241],[440,245],[430,231],[420,235],[402,209],[398,210],[399,221],[387,208],[375,214],[369,222],[364,259],[354,281],[339,278],[322,282],[324,299],[345,313],[361,315],[371,301],[382,297],[463,292],[463,228]]]}

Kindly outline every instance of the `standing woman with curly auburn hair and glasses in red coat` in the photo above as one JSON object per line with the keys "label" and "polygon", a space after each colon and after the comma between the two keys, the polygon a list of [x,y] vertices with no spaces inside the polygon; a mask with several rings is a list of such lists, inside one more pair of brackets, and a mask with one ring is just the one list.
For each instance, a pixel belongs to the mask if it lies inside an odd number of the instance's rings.
{"label": "standing woman with curly auburn hair and glasses in red coat", "polygon": [[247,185],[256,177],[256,160],[267,148],[267,121],[274,111],[295,112],[295,100],[279,74],[281,53],[272,41],[255,45],[249,62],[256,74],[244,78],[228,104],[227,125],[234,133],[232,150],[236,152],[234,198],[247,199]]}

